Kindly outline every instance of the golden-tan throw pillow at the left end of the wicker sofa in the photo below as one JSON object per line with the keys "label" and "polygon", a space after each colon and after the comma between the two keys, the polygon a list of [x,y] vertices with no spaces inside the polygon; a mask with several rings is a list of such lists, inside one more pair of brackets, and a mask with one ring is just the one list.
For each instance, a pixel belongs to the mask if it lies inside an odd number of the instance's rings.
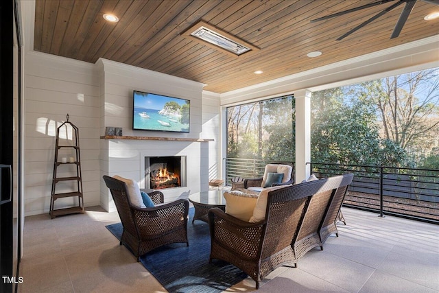
{"label": "golden-tan throw pillow at the left end of the wicker sofa", "polygon": [[258,194],[247,194],[241,191],[224,192],[226,198],[226,213],[248,222],[253,215]]}

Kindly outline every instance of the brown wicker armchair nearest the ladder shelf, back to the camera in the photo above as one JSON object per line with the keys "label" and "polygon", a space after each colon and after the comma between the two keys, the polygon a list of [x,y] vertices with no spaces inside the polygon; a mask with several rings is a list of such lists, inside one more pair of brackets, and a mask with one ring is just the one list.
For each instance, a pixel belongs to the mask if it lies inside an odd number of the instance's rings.
{"label": "brown wicker armchair nearest the ladder shelf, back to the camera", "polygon": [[[128,246],[137,261],[141,255],[165,244],[186,242],[189,246],[187,200],[180,199],[152,208],[137,208],[130,203],[126,183],[109,176],[104,176],[104,181],[111,191],[123,225],[120,244]],[[148,195],[154,204],[163,203],[163,193],[160,191]]]}

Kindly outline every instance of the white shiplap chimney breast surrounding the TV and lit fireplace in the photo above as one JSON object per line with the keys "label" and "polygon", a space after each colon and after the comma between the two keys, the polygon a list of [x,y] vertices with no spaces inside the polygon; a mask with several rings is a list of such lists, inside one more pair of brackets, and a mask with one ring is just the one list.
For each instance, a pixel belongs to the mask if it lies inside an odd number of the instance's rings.
{"label": "white shiplap chimney breast surrounding the TV and lit fireplace", "polygon": [[[110,60],[99,59],[96,65],[101,74],[101,133],[104,133],[106,127],[115,126],[123,128],[123,134],[126,135],[101,137],[101,176],[131,178],[144,189],[145,156],[186,156],[186,187],[161,189],[165,202],[188,198],[189,194],[208,190],[209,161],[213,162],[211,165],[217,161],[217,157],[209,158],[209,149],[217,149],[218,145],[209,143],[213,141],[211,133],[216,132],[209,131],[210,117],[203,110],[204,84]],[[133,90],[189,99],[191,132],[183,134],[133,130]],[[209,97],[206,97],[206,101],[209,101]],[[204,130],[209,132],[208,137],[204,137]],[[216,153],[213,156],[217,156]],[[100,204],[107,211],[115,211],[115,204],[104,180],[101,183]]]}

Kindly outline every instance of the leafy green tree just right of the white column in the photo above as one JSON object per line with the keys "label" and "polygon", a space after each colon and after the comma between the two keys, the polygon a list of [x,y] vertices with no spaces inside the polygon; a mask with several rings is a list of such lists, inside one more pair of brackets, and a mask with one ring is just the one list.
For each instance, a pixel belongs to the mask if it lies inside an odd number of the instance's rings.
{"label": "leafy green tree just right of the white column", "polygon": [[374,105],[361,99],[348,99],[352,91],[346,86],[313,93],[311,161],[346,165],[407,164],[406,153],[399,145],[379,137]]}

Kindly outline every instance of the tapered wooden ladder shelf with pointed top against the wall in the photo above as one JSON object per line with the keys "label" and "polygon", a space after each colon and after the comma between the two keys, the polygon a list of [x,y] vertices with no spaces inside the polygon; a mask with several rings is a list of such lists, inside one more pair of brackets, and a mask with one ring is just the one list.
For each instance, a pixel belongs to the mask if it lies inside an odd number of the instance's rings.
{"label": "tapered wooden ladder shelf with pointed top against the wall", "polygon": [[[60,130],[64,129],[63,134],[67,135],[71,133],[71,141],[72,145],[60,145]],[[70,152],[70,156],[62,157],[63,154],[60,154],[60,150],[65,152]],[[62,152],[61,151],[61,152]],[[70,167],[69,167],[70,166]],[[72,168],[73,166],[73,168]],[[60,170],[58,170],[58,168]],[[70,176],[62,176],[58,175],[58,172],[61,174],[69,174]],[[69,183],[73,182],[73,185],[69,188],[73,190],[58,192],[56,191],[56,187],[58,183]],[[68,185],[68,184],[67,184]],[[64,186],[66,189],[67,186]],[[78,205],[73,207],[67,207],[64,209],[55,209],[55,200],[58,198],[70,198],[70,197],[78,197]],[[50,217],[53,219],[58,215],[68,215],[71,213],[84,213],[84,197],[82,194],[82,176],[81,176],[81,156],[80,156],[80,137],[79,130],[73,123],[69,121],[69,114],[67,114],[67,121],[61,124],[56,129],[56,145],[55,145],[55,159],[54,159],[54,176],[52,178],[52,190],[50,197]]]}

